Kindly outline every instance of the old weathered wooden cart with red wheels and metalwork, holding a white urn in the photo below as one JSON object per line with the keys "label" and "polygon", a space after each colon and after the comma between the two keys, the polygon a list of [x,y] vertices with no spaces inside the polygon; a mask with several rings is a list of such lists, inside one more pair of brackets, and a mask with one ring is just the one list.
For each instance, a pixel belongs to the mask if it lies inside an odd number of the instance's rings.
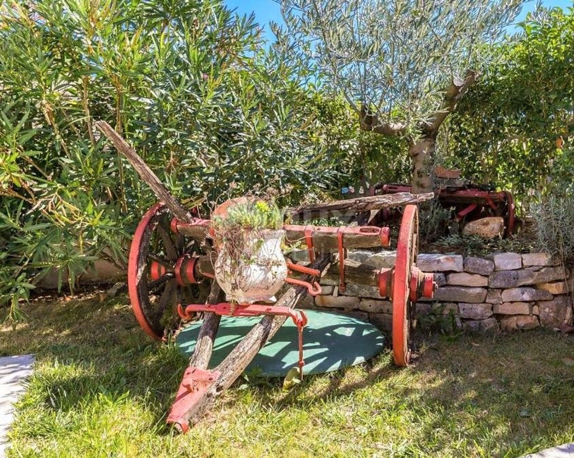
{"label": "old weathered wooden cart with red wheels and metalwork, holding a white urn", "polygon": [[[347,282],[361,278],[363,283],[367,281],[377,286],[381,297],[390,298],[393,304],[394,362],[398,366],[409,363],[411,304],[420,297],[431,298],[436,287],[433,275],[423,273],[416,267],[418,208],[414,203],[429,199],[432,194],[378,196],[326,204],[327,209],[365,211],[410,203],[404,208],[394,267],[380,270],[368,266],[359,268],[349,265],[345,259],[348,248],[389,246],[390,230],[387,227],[286,225],[284,230],[288,241],[304,241],[311,260],[309,265],[287,261],[290,273],[301,275],[288,278],[287,282],[293,285],[292,288],[273,305],[230,304],[223,301],[214,280],[214,267],[209,256],[210,220],[194,217],[181,207],[110,126],[103,122],[97,123],[97,126],[130,160],[161,199],[138,224],[130,248],[129,296],[138,323],[153,339],[163,340],[182,323],[196,319],[198,312],[204,314],[193,355],[167,418],[168,423],[183,432],[187,431],[189,423],[198,418],[211,401],[241,375],[288,318],[293,320],[299,331],[298,367],[301,369],[304,365],[302,328],[307,324],[307,317],[303,310],[294,307],[305,294],[320,293],[317,280],[322,276],[336,279],[340,291],[344,291]],[[320,207],[324,209],[325,205]],[[310,211],[313,211],[312,207]],[[208,369],[222,315],[263,317],[227,358],[218,366]]]}

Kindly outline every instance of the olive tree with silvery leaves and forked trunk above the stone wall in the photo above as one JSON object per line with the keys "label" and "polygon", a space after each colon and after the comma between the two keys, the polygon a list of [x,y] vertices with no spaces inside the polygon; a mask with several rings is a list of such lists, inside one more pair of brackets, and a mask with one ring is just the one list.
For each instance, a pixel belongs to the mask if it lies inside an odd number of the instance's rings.
{"label": "olive tree with silvery leaves and forked trunk above the stone wall", "polygon": [[432,189],[439,127],[479,76],[521,0],[281,0],[279,44],[342,92],[363,130],[409,142],[415,192]]}

